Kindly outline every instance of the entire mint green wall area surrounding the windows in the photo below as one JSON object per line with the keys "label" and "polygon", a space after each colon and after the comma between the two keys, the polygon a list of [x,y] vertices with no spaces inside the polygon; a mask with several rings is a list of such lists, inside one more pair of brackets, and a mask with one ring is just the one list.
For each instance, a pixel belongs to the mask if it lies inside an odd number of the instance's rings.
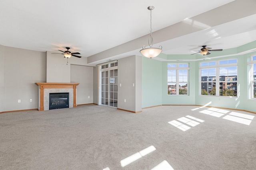
{"label": "entire mint green wall area surrounding the windows", "polygon": [[[249,66],[250,57],[256,55],[256,41],[237,48],[213,52],[212,59],[205,61],[218,61],[225,59],[238,59],[238,97],[206,96],[200,95],[199,64],[203,62],[202,55],[165,55],[160,54],[163,61],[142,57],[142,108],[157,105],[200,105],[224,107],[230,109],[242,109],[256,112],[256,100],[250,99],[249,91]],[[248,51],[252,51],[248,53]],[[253,52],[254,51],[254,52]],[[241,55],[238,55],[241,53]],[[247,53],[247,54],[243,54]],[[220,56],[221,55],[221,56]],[[172,61],[172,60],[188,61]],[[189,95],[176,96],[167,94],[167,64],[189,63]],[[160,71],[161,70],[161,71]]]}

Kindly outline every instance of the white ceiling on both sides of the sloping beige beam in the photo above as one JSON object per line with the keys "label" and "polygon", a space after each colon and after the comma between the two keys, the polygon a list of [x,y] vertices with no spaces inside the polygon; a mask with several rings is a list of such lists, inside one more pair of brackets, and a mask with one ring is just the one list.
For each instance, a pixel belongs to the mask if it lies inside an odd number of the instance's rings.
{"label": "white ceiling on both sides of the sloping beige beam", "polygon": [[[233,1],[0,0],[0,45],[56,52],[70,47],[71,52],[89,57],[147,35],[148,6],[155,7],[152,11],[154,32],[180,21],[191,23],[190,18]],[[255,21],[256,15],[252,15],[211,29],[205,25],[202,31],[158,44],[163,46],[165,54],[191,54],[202,45],[213,49],[238,47],[256,40]],[[193,24],[204,27],[204,23],[194,21]],[[141,47],[143,45],[147,42]]]}

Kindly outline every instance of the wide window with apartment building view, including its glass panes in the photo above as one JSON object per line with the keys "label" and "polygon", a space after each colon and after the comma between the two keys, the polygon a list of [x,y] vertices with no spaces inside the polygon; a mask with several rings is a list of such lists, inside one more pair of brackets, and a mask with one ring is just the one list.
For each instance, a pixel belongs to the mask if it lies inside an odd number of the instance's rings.
{"label": "wide window with apartment building view, including its glass panes", "polygon": [[200,63],[200,74],[201,95],[237,96],[237,59]]}

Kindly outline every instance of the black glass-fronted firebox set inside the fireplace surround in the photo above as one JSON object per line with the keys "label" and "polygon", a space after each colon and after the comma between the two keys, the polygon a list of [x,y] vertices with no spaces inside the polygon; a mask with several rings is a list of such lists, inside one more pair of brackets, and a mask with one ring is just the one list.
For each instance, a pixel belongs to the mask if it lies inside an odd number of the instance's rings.
{"label": "black glass-fronted firebox set inside the fireplace surround", "polygon": [[69,108],[69,93],[50,93],[49,110]]}

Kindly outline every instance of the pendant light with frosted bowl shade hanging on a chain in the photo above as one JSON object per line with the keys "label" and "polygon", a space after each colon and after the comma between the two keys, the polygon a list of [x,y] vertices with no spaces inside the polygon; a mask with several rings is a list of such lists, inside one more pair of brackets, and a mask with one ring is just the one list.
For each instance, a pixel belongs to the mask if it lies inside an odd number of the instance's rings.
{"label": "pendant light with frosted bowl shade hanging on a chain", "polygon": [[148,57],[150,59],[158,56],[162,52],[162,46],[160,45],[159,48],[153,48],[153,37],[152,37],[152,10],[154,10],[154,6],[149,6],[148,10],[150,10],[150,36],[148,38],[148,45],[149,48],[146,48],[145,45],[142,47],[142,50],[140,50],[140,53],[144,55],[145,57]]}

